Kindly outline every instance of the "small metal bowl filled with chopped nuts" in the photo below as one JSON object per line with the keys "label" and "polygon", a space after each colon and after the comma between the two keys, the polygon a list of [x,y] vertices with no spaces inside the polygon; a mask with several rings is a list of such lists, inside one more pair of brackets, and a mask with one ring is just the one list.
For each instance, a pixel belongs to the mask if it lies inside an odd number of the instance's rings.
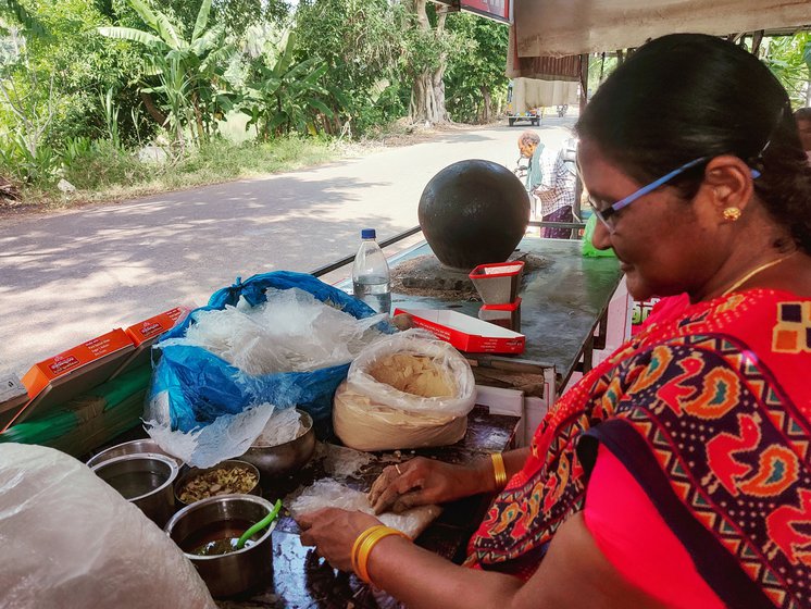
{"label": "small metal bowl filled with chopped nuts", "polygon": [[175,498],[189,506],[220,495],[260,495],[259,470],[245,461],[223,461],[213,468],[190,468],[175,484]]}

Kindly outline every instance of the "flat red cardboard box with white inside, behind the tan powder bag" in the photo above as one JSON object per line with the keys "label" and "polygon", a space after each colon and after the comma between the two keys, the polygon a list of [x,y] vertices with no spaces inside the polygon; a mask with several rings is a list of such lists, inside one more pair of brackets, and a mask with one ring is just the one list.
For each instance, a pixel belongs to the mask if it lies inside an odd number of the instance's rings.
{"label": "flat red cardboard box with white inside, behind the tan powder bag", "polygon": [[396,309],[412,324],[447,340],[460,351],[471,353],[521,353],[526,337],[517,332],[445,309]]}

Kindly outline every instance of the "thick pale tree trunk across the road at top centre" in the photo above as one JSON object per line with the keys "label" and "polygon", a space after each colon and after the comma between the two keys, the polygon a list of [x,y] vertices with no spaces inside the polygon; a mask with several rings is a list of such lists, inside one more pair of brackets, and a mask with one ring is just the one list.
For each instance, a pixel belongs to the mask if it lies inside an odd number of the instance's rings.
{"label": "thick pale tree trunk across the road at top centre", "polygon": [[[415,0],[416,23],[420,29],[431,30],[431,22],[426,12],[427,0]],[[445,20],[448,16],[447,7],[437,8],[436,35],[441,36],[445,30]],[[445,54],[440,57],[439,67],[436,71],[423,70],[411,87],[411,102],[409,103],[409,119],[412,123],[450,123],[450,115],[445,108],[445,69],[447,66]]]}

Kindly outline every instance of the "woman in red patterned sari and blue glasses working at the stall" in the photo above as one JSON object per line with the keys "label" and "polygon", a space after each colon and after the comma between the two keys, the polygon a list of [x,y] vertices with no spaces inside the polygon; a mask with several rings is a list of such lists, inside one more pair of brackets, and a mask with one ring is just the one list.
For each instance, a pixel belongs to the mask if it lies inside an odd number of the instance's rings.
{"label": "woman in red patterned sari and blue glasses working at the stall", "polygon": [[409,607],[809,607],[811,170],[788,98],[745,50],[674,35],[577,132],[595,246],[634,298],[690,304],[584,376],[531,448],[384,472],[378,512],[498,493],[465,567],[360,512],[308,514],[301,539]]}

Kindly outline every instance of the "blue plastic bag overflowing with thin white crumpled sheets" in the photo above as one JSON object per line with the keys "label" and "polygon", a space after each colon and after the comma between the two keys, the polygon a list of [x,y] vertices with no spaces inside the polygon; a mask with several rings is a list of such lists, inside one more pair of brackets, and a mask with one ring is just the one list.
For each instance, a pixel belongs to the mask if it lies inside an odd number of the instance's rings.
{"label": "blue plastic bag overflowing with thin white crumpled sheets", "polygon": [[198,468],[244,455],[274,408],[304,410],[328,437],[335,389],[363,345],[391,331],[386,318],[312,275],[237,279],[153,348],[147,431]]}

